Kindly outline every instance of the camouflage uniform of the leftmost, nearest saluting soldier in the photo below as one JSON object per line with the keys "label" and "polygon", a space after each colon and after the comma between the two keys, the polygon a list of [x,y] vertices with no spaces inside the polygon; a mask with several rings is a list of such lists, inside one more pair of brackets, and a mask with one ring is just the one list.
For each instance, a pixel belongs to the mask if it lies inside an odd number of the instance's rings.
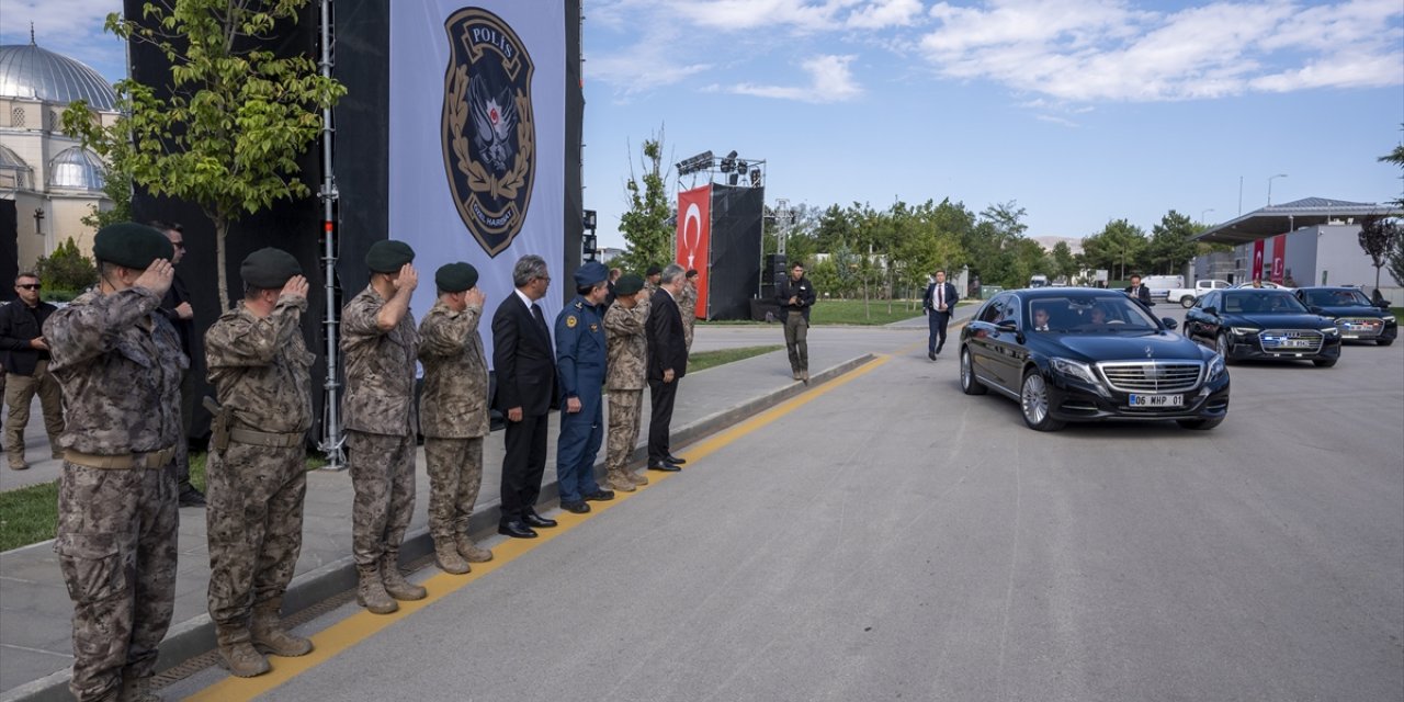
{"label": "camouflage uniform of the leftmost, nearest saluting soldier", "polygon": [[[79,701],[150,678],[176,600],[180,379],[190,366],[146,288],[88,292],[44,326],[67,399],[53,549],[73,600]],[[108,468],[93,468],[105,465]]]}

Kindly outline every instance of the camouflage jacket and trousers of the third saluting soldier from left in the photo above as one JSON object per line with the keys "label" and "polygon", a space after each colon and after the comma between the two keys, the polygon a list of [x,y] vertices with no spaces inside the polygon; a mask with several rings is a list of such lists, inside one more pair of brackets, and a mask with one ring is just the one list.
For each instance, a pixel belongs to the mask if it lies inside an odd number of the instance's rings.
{"label": "camouflage jacket and trousers of the third saluting soldier from left", "polygon": [[361,567],[378,567],[382,557],[399,555],[414,512],[414,361],[420,336],[409,310],[399,326],[380,331],[375,317],[386,302],[368,285],[341,310],[347,373],[341,411],[355,484],[351,550]]}

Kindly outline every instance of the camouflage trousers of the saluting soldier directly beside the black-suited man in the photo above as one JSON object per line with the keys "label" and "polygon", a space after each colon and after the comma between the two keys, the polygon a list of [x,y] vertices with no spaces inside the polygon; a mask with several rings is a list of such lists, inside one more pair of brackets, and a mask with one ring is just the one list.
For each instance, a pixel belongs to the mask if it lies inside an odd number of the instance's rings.
{"label": "camouflage trousers of the saluting soldier directly beside the black-suited man", "polygon": [[483,484],[483,437],[424,437],[430,472],[430,535],[434,542],[468,534],[468,519]]}

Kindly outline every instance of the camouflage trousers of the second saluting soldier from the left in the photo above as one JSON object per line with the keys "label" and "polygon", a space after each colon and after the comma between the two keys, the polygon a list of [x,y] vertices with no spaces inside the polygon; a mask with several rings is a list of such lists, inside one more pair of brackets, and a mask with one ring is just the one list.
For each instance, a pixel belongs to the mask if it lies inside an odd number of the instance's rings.
{"label": "camouflage trousers of the second saluting soldier from the left", "polygon": [[253,607],[279,598],[302,550],[306,452],[230,442],[205,470],[209,618],[246,626]]}

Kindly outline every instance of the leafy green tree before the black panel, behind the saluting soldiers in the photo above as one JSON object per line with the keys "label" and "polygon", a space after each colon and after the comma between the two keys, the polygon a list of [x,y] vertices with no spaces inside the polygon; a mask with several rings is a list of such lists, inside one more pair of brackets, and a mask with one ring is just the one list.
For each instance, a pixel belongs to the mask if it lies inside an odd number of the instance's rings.
{"label": "leafy green tree before the black panel, behind the saluting soldiers", "polygon": [[107,15],[107,31],[156,46],[170,62],[168,97],[135,80],[114,86],[122,117],[94,122],[83,101],[67,133],[156,195],[199,205],[215,226],[219,300],[229,307],[229,226],[278,199],[310,195],[298,157],[322,133],[322,110],[345,88],[306,55],[268,49],[307,0],[168,0],[140,20]]}

